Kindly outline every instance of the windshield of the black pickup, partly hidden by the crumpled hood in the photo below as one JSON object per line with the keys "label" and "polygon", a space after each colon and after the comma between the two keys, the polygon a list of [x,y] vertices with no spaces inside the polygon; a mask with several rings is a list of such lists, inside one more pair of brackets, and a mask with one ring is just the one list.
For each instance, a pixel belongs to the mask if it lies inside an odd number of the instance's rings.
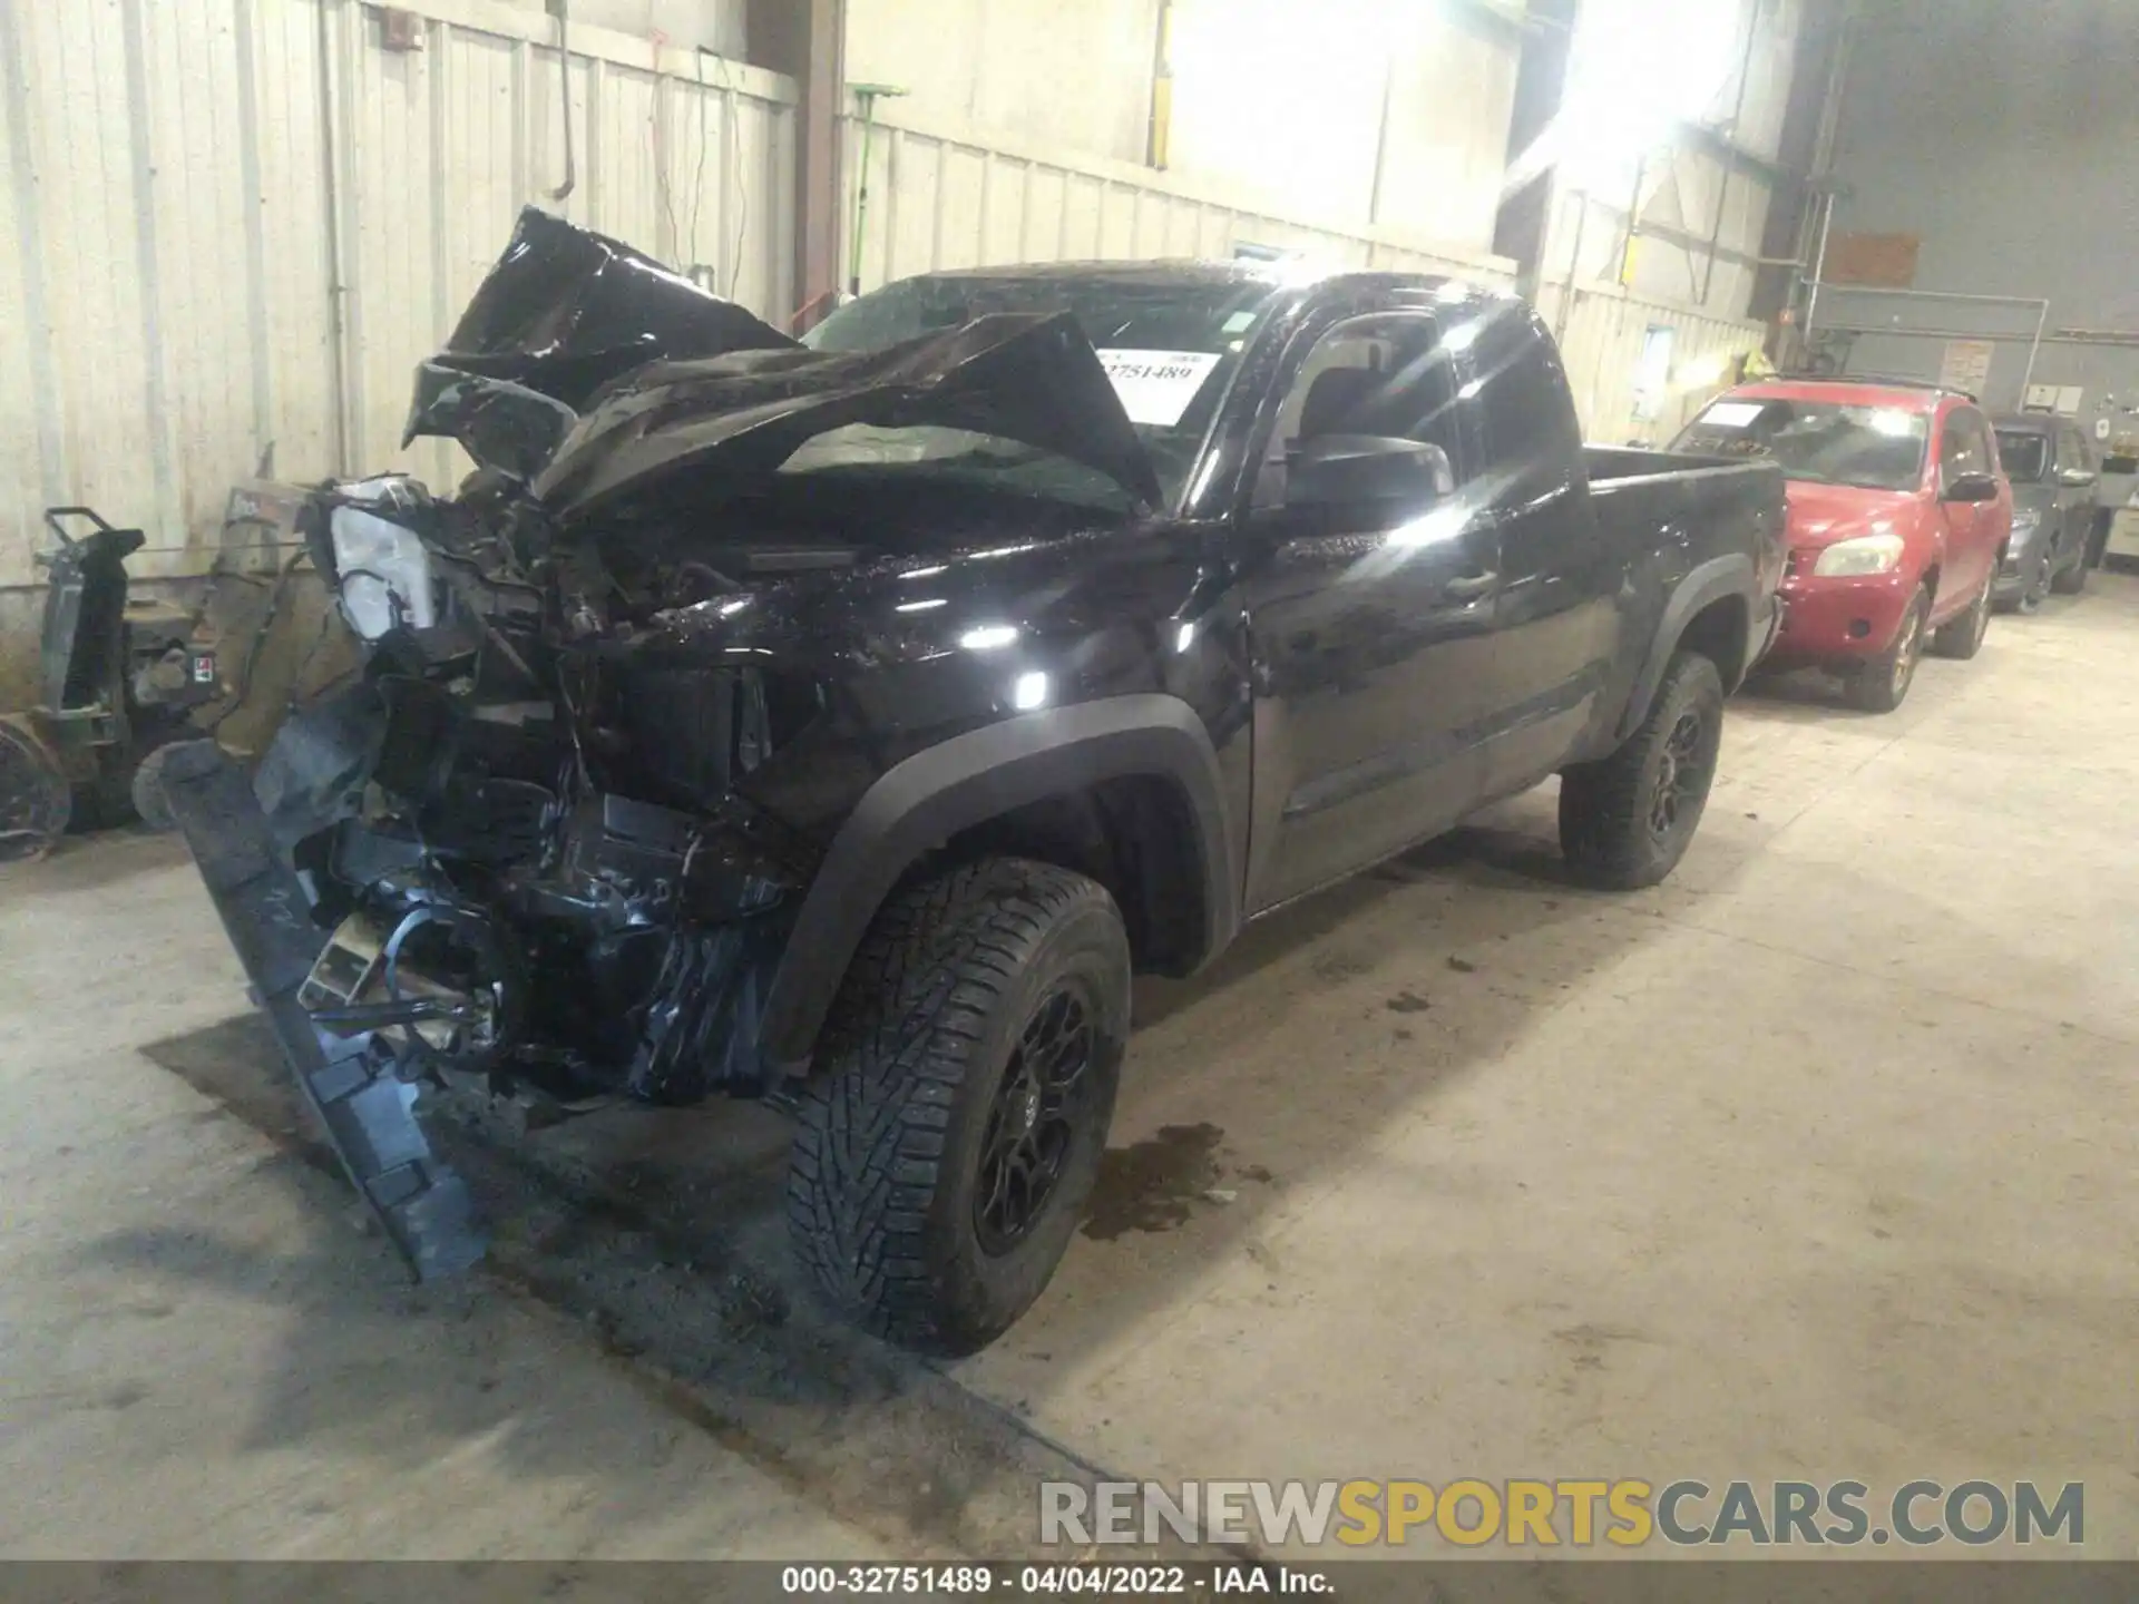
{"label": "windshield of the black pickup, partly hidden by the crumpled hood", "polygon": [[[1114,381],[1168,505],[1179,505],[1204,432],[1262,321],[1264,282],[1153,282],[1136,278],[905,278],[847,302],[802,336],[815,351],[877,351],[986,312],[1070,312]],[[834,430],[787,460],[824,468],[956,473],[1005,490],[1119,503],[1104,475],[1050,451],[952,428]]]}

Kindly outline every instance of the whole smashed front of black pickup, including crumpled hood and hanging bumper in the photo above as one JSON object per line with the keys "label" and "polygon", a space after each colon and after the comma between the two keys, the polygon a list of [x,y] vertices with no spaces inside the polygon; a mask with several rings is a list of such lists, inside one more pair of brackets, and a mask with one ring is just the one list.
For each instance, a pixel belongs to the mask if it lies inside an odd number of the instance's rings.
{"label": "whole smashed front of black pickup, including crumpled hood and hanging bumper", "polygon": [[[824,496],[856,492],[774,479],[826,432],[907,426],[1057,453],[1129,509],[1159,494],[1067,317],[806,351],[539,212],[417,372],[409,434],[475,458],[460,494],[310,494],[297,528],[361,669],[295,708],[257,768],[212,742],[173,753],[165,798],[299,1089],[419,1277],[481,1251],[419,1086],[560,1114],[759,1095],[791,1067],[761,1046],[766,999],[886,744],[864,714],[851,761],[811,755],[828,665],[866,680],[905,654],[948,684],[956,657],[892,601],[873,622],[856,577],[898,530],[945,539],[939,507],[853,518]],[[954,699],[918,697],[956,723]],[[800,770],[785,796],[806,806],[755,800],[770,764]]]}

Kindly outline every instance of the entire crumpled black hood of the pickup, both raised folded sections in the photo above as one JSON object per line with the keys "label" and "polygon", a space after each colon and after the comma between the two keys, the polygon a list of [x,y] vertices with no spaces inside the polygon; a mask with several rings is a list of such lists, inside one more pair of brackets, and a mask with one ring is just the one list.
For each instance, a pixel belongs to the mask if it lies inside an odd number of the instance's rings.
{"label": "entire crumpled black hood of the pickup, both raised folded sections", "polygon": [[886,351],[809,351],[535,207],[447,349],[417,368],[406,438],[456,438],[569,520],[687,473],[747,490],[847,423],[995,434],[1159,503],[1136,428],[1067,314],[990,314]]}

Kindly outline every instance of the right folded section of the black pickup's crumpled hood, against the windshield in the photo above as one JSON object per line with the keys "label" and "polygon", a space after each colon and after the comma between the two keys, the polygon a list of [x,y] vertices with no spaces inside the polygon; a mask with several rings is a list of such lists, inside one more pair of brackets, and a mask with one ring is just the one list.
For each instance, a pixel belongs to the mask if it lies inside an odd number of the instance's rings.
{"label": "right folded section of the black pickup's crumpled hood, against the windshield", "polygon": [[1055,451],[1142,505],[1159,483],[1106,368],[1067,312],[992,312],[883,351],[740,351],[661,361],[612,385],[558,447],[535,494],[565,513],[687,471],[738,488],[849,423],[930,423]]}

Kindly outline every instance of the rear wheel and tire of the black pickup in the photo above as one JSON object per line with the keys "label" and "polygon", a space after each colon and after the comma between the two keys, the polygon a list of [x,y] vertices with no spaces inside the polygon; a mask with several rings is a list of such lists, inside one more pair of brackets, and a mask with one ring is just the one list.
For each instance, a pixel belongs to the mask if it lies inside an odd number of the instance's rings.
{"label": "rear wheel and tire of the black pickup", "polygon": [[[1694,742],[1679,755],[1688,719]],[[1679,652],[1656,687],[1649,714],[1619,751],[1559,776],[1559,849],[1568,870],[1585,885],[1632,892],[1677,868],[1709,802],[1722,731],[1722,674],[1701,652]],[[1690,781],[1686,796],[1668,826],[1658,828],[1660,787],[1681,774]]]}

